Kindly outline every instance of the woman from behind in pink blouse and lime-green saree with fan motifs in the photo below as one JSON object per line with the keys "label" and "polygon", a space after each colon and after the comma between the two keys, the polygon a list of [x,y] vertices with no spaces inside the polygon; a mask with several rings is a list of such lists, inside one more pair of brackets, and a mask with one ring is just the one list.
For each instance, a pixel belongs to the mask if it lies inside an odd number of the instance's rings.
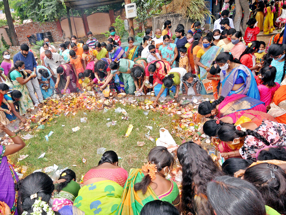
{"label": "woman from behind in pink blouse and lime-green saree with fan motifs", "polygon": [[86,215],[114,215],[120,204],[120,196],[128,172],[118,167],[118,156],[106,151],[98,166],[84,175],[84,184],[78,192],[74,206]]}

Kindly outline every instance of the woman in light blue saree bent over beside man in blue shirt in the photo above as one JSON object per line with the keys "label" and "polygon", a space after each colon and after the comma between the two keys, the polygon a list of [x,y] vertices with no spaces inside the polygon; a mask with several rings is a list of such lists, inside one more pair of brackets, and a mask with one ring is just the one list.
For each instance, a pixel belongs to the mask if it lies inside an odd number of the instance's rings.
{"label": "woman in light blue saree bent over beside man in blue shirt", "polygon": [[[44,99],[53,95],[53,90],[55,89],[55,82],[51,79],[52,74],[47,67],[37,66],[36,68],[37,79],[39,80],[40,88]],[[47,89],[43,89],[43,85],[46,85]],[[44,86],[45,86],[44,85]]]}

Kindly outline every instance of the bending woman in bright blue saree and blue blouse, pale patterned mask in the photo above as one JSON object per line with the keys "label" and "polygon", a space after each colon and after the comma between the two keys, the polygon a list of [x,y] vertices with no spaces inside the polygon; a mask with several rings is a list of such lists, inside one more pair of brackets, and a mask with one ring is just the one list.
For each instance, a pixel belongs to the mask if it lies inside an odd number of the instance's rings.
{"label": "bending woman in bright blue saree and blue blouse, pale patterned mask", "polygon": [[221,87],[219,96],[232,94],[247,95],[260,100],[257,83],[252,72],[229,52],[222,52],[216,58],[216,63],[221,69]]}

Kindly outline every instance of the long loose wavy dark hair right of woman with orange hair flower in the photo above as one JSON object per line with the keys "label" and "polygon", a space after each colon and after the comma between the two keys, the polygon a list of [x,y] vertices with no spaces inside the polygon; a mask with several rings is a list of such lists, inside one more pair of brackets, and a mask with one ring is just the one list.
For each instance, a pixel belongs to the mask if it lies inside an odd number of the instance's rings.
{"label": "long loose wavy dark hair right of woman with orange hair flower", "polygon": [[206,150],[192,141],[179,146],[178,160],[182,165],[182,198],[180,209],[183,215],[192,214],[215,215],[207,201],[204,207],[195,207],[194,196],[206,196],[206,185],[215,177],[223,175],[219,167],[212,161]]}

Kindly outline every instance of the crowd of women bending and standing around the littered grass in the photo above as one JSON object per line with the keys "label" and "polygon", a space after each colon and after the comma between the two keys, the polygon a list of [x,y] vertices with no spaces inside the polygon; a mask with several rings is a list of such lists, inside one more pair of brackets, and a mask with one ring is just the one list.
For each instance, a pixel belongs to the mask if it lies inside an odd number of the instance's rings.
{"label": "crowd of women bending and standing around the littered grass", "polygon": [[[286,45],[273,43],[266,54],[264,42],[244,44],[242,33],[229,26],[224,30],[225,25],[221,23],[222,32],[203,36],[201,24],[195,22],[185,36],[179,24],[172,40],[172,24],[167,20],[163,31],[155,30],[154,38],[152,30],[147,30],[139,47],[129,37],[125,49],[114,28],[106,43],[98,42],[91,32],[86,44],[73,36],[71,44],[59,45],[65,63],[57,67],[56,81],[51,83],[47,65],[37,67],[35,74],[47,86],[44,97],[51,96],[60,84],[63,89],[97,92],[109,85],[129,94],[154,90],[154,106],[167,88],[175,97],[199,95],[206,93],[202,80],[211,80],[216,99],[198,105],[198,113],[207,121],[193,140],[203,133],[210,137],[218,157],[225,159],[222,170],[206,150],[188,141],[172,154],[163,146],[152,148],[148,162],[129,173],[119,167],[114,151],[106,151],[84,175],[82,187],[71,169],[62,171],[54,182],[42,172],[19,181],[7,155],[25,143],[7,129],[4,115],[12,112],[21,119],[21,110],[27,111],[30,102],[25,65],[17,61],[14,68],[10,65],[6,84],[0,84],[4,122],[0,129],[14,142],[0,145],[1,214],[286,214]],[[43,50],[49,48],[54,50],[43,44]],[[45,53],[45,57],[52,59],[53,55]],[[169,180],[176,156],[182,187]]]}

